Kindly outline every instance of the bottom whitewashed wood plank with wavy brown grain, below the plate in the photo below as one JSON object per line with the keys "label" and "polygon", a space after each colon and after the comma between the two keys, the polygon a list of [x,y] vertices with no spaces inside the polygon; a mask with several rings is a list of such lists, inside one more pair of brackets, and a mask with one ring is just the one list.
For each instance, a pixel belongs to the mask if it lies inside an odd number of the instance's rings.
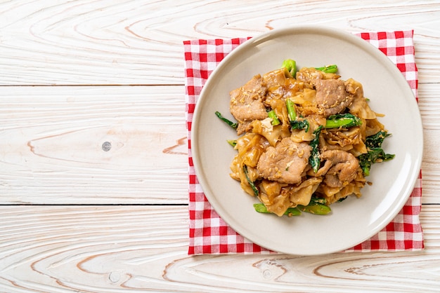
{"label": "bottom whitewashed wood plank with wavy brown grain, below the plate", "polygon": [[0,208],[1,292],[438,292],[439,205],[422,252],[187,255],[187,207]]}

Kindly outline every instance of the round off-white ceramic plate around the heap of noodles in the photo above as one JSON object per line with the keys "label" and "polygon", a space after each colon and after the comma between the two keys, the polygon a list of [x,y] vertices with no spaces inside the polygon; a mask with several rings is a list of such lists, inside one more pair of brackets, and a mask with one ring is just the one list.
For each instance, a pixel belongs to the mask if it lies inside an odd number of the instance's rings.
{"label": "round off-white ceramic plate around the heap of noodles", "polygon": [[[228,95],[254,76],[281,67],[291,58],[298,67],[337,64],[342,79],[363,84],[365,97],[392,136],[385,151],[392,161],[377,163],[359,199],[335,203],[332,214],[277,217],[259,214],[240,184],[229,177],[236,151],[226,139],[235,131],[214,115],[232,118]],[[232,119],[231,119],[232,120]],[[193,117],[191,147],[195,171],[216,212],[235,231],[270,250],[287,254],[339,252],[375,235],[394,219],[408,200],[422,161],[422,123],[408,83],[396,66],[368,42],[347,32],[323,27],[290,27],[254,37],[233,50],[209,77]]]}

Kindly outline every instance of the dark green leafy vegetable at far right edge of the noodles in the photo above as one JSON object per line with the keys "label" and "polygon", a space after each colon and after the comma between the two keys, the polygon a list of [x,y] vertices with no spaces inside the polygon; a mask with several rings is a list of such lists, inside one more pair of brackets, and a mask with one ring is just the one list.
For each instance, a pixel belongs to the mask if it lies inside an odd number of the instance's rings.
{"label": "dark green leafy vegetable at far right edge of the noodles", "polygon": [[382,149],[382,142],[384,142],[384,139],[388,136],[389,134],[387,134],[386,131],[380,131],[365,139],[365,146],[367,147],[368,153],[361,154],[361,156],[358,157],[363,175],[370,175],[370,168],[374,163],[389,161],[394,158],[394,154],[386,154]]}

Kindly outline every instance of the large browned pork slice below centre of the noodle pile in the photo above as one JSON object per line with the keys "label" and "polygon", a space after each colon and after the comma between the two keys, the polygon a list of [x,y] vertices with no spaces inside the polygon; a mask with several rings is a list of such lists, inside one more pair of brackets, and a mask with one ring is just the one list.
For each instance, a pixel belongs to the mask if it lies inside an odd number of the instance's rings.
{"label": "large browned pork slice below centre of the noodle pile", "polygon": [[298,184],[309,164],[311,147],[307,142],[293,142],[290,137],[282,139],[275,147],[268,147],[258,161],[257,170],[265,179]]}

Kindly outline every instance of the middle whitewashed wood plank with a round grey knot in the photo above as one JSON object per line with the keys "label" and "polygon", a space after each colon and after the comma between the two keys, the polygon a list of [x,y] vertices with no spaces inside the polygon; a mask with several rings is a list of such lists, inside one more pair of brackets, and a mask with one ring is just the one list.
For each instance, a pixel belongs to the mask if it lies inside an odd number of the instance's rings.
{"label": "middle whitewashed wood plank with a round grey knot", "polygon": [[[2,88],[0,203],[187,203],[183,93],[183,86]],[[423,203],[440,203],[439,95],[440,84],[420,85]]]}

